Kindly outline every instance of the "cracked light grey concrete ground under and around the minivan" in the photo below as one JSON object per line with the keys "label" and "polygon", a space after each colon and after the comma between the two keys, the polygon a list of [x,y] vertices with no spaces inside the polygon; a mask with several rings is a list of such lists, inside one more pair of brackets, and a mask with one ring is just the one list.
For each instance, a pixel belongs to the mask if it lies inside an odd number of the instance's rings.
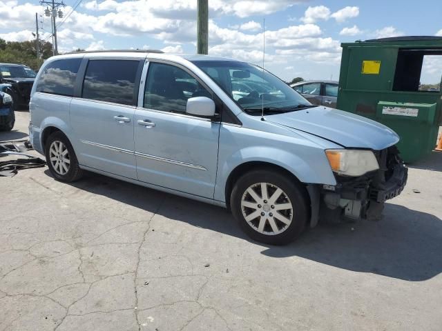
{"label": "cracked light grey concrete ground under and around the minivan", "polygon": [[0,330],[439,331],[441,183],[434,152],[382,221],[272,247],[222,208],[97,174],[0,177]]}

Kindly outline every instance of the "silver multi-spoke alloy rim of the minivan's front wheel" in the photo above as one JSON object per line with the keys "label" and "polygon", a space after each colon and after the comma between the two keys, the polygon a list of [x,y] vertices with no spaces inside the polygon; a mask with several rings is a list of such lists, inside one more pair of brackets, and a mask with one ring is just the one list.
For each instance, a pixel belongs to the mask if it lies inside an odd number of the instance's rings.
{"label": "silver multi-spoke alloy rim of the minivan's front wheel", "polygon": [[287,194],[271,183],[256,183],[242,194],[242,216],[262,234],[280,234],[293,220],[293,205]]}

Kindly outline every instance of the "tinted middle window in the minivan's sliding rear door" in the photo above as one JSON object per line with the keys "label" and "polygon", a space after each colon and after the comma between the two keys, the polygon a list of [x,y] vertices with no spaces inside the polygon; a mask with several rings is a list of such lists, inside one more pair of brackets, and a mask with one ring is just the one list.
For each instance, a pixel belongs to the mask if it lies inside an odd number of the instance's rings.
{"label": "tinted middle window in the minivan's sliding rear door", "polygon": [[84,77],[85,99],[135,105],[138,60],[90,60]]}

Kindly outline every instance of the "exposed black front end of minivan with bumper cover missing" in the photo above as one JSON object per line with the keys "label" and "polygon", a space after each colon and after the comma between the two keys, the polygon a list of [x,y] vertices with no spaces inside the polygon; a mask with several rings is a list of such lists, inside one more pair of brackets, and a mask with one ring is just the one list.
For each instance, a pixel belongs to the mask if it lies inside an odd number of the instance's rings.
{"label": "exposed black front end of minivan with bumper cover missing", "polygon": [[326,223],[380,219],[386,200],[403,191],[408,169],[396,147],[376,151],[379,170],[361,177],[336,175],[335,186],[318,188],[318,219]]}

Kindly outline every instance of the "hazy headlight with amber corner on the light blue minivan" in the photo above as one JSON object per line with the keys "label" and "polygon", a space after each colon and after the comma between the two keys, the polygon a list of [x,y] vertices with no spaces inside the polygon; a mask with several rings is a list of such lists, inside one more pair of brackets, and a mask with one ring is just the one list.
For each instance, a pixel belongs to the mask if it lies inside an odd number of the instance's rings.
{"label": "hazy headlight with amber corner on the light blue minivan", "polygon": [[337,174],[362,176],[378,170],[379,164],[371,150],[326,150],[330,167]]}

